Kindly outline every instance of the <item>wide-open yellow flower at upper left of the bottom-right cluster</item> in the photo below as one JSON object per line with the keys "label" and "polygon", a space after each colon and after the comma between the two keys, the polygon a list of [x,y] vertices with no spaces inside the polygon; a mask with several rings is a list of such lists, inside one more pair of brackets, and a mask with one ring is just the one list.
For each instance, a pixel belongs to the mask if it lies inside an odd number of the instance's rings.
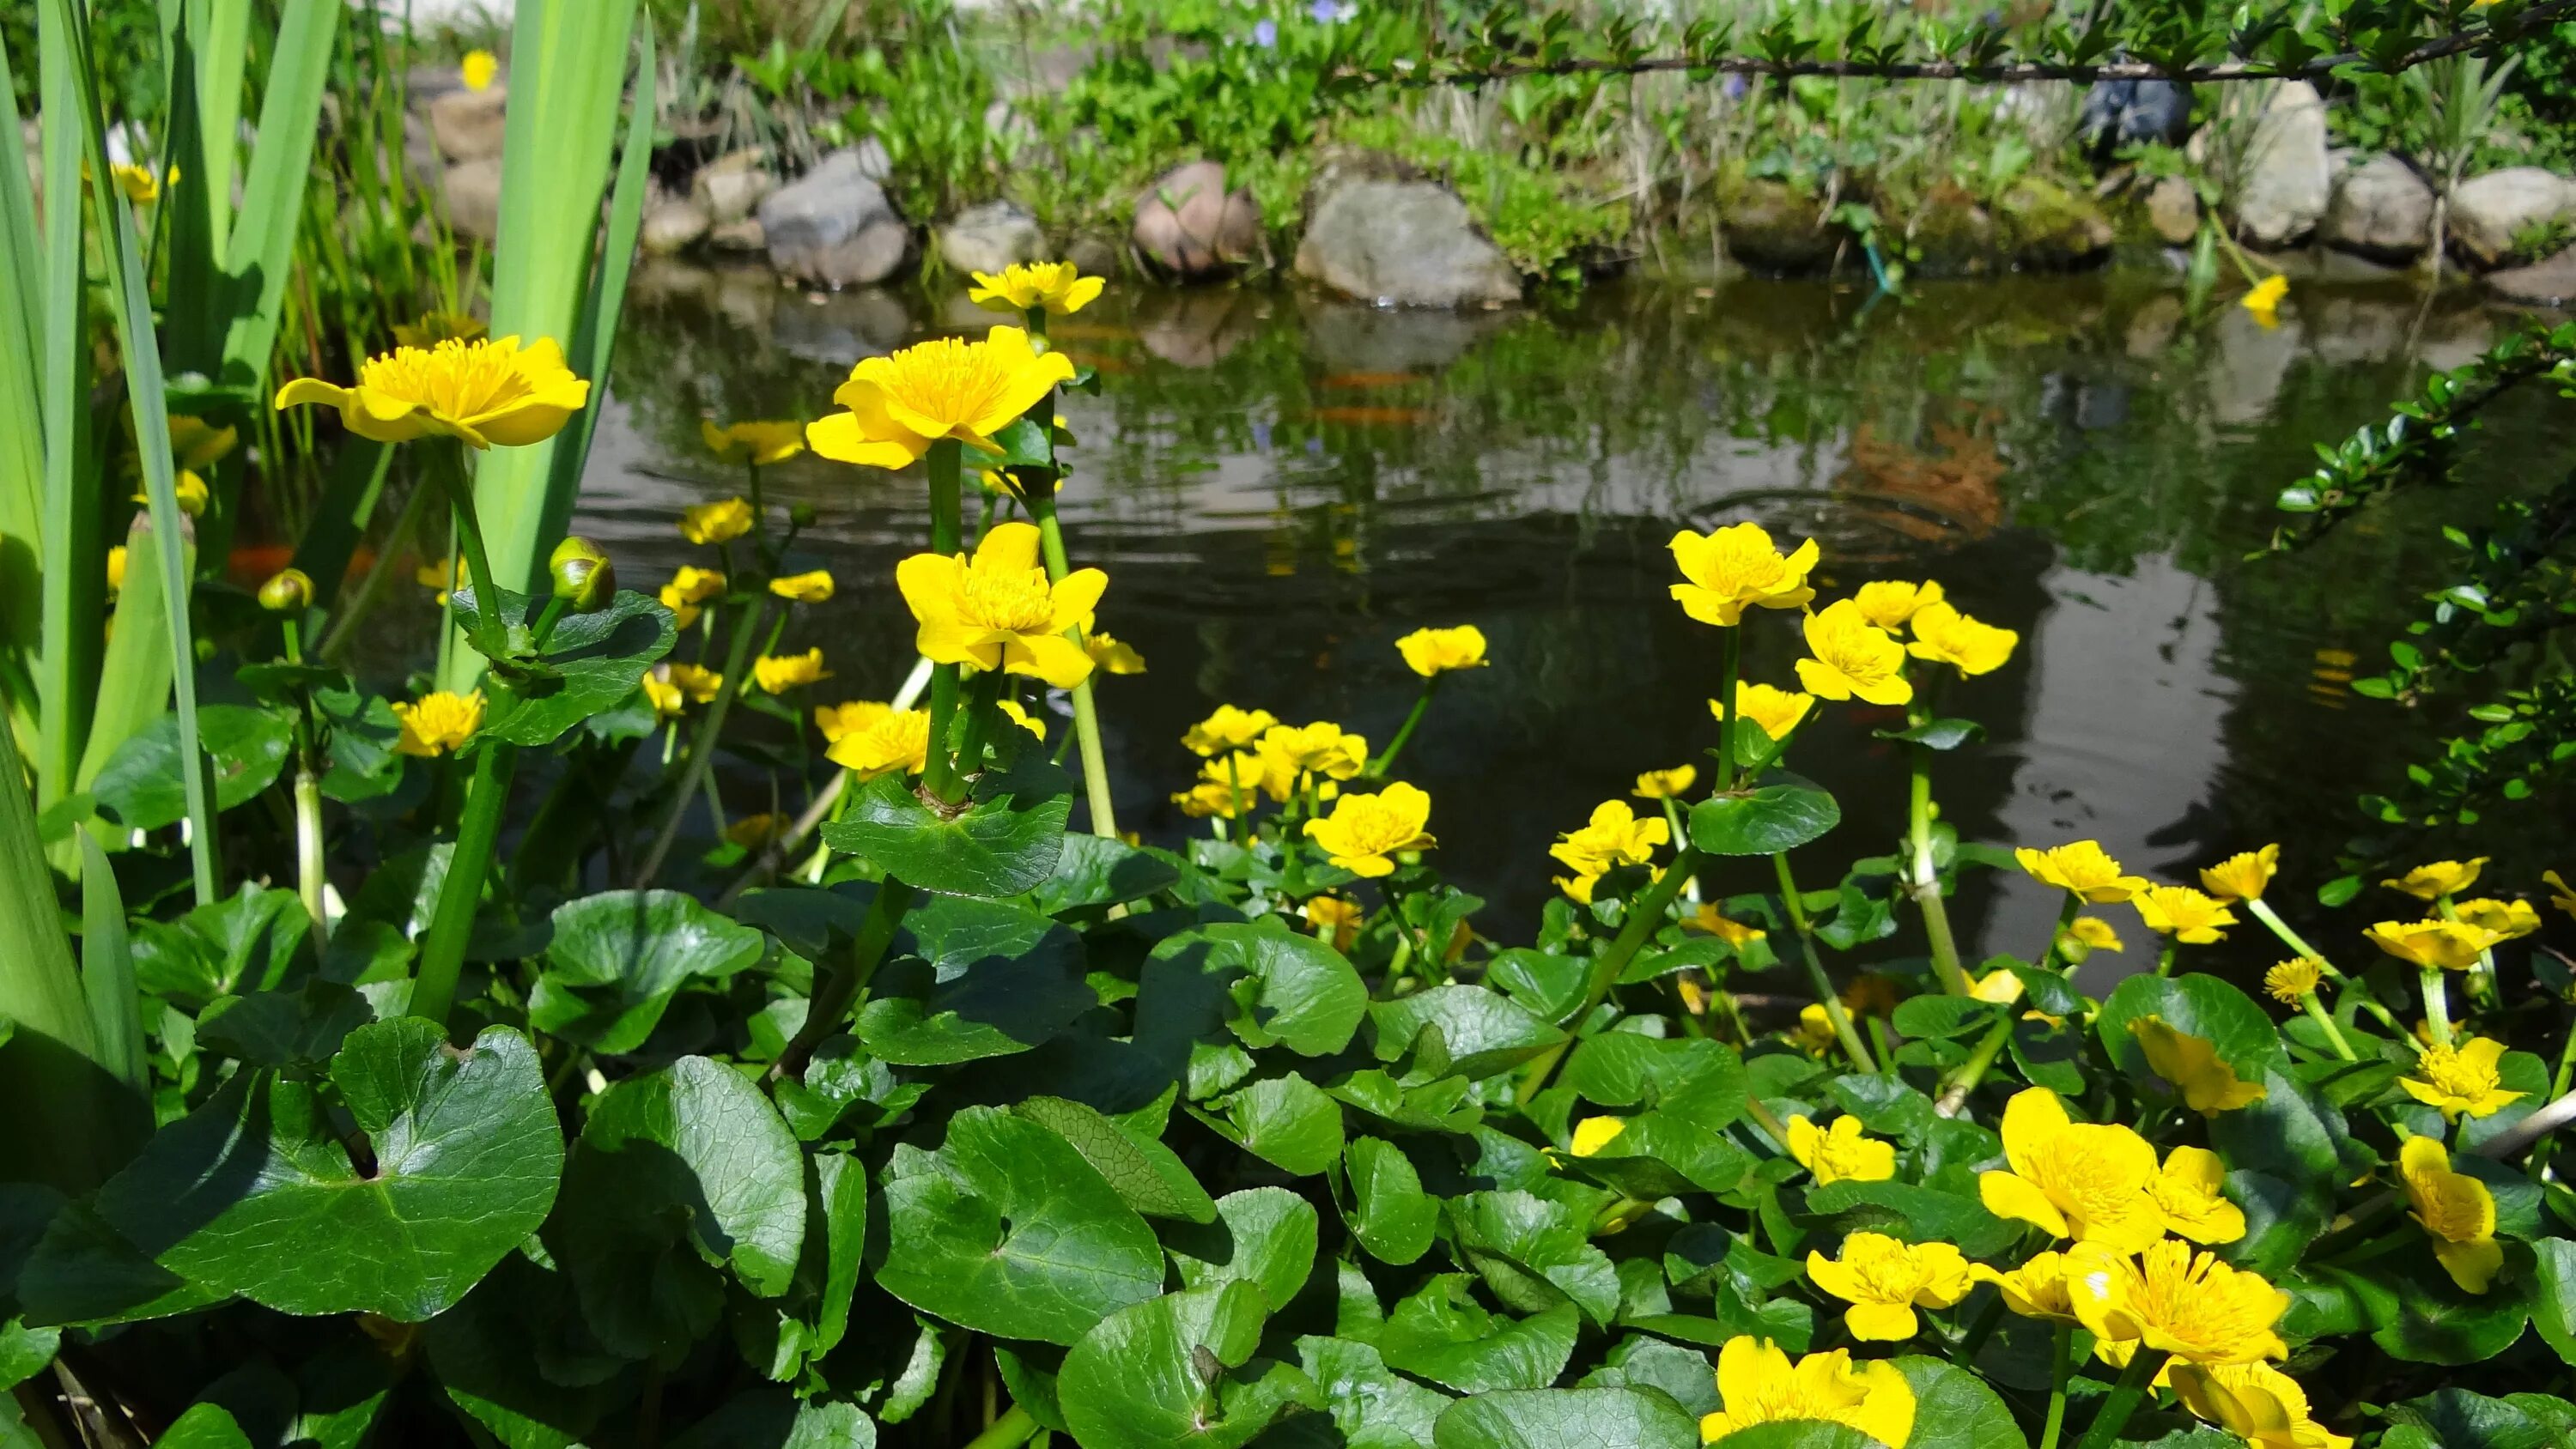
{"label": "wide-open yellow flower at upper left of the bottom-right cluster", "polygon": [[2009,1171],[1976,1179],[1978,1199],[1996,1217],[2123,1253],[2164,1235],[2164,1215],[2146,1194],[2156,1148],[2120,1125],[2069,1120],[2045,1086],[2022,1089],[2004,1104],[2004,1161]]}

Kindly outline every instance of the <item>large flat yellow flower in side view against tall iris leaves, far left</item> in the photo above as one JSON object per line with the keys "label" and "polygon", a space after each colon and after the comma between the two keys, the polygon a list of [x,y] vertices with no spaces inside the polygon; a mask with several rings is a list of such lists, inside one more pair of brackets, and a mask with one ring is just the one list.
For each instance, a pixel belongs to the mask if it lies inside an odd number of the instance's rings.
{"label": "large flat yellow flower in side view against tall iris leaves, far left", "polygon": [[554,438],[590,401],[551,337],[394,347],[358,363],[358,386],[296,378],[278,389],[283,412],[301,401],[340,409],[340,425],[376,443],[459,438],[471,448],[526,448]]}

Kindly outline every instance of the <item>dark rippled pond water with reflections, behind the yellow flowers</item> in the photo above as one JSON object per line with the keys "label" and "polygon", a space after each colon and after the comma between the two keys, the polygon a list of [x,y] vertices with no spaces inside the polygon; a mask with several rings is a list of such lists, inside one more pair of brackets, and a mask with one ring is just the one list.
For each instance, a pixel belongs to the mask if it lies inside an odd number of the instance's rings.
{"label": "dark rippled pond water with reflections, behind the yellow flowers", "polygon": [[[649,270],[577,528],[652,587],[703,561],[672,528],[680,507],[739,492],[698,445],[701,417],[819,417],[855,358],[989,322],[961,291],[809,296],[765,273]],[[1391,641],[1476,623],[1494,667],[1443,687],[1401,775],[1432,793],[1443,872],[1489,901],[1476,927],[1528,942],[1551,839],[1641,770],[1705,764],[1716,631],[1669,602],[1664,543],[1749,517],[1821,540],[1826,597],[1932,577],[2022,633],[2009,667],[1945,703],[1991,731],[1937,775],[1965,836],[2099,836],[2172,880],[2277,839],[2287,898],[2306,901],[2362,826],[2354,795],[2429,739],[2347,679],[2437,577],[2429,520],[2473,499],[2401,499],[2308,553],[2246,553],[2313,440],[2509,324],[2324,286],[2293,293],[2277,329],[2233,306],[2195,319],[2154,270],[1878,304],[1829,283],[1633,281],[1466,317],[1113,288],[1056,337],[1103,381],[1064,404],[1082,440],[1074,561],[1110,571],[1100,623],[1149,659],[1100,685],[1118,818],[1154,844],[1206,829],[1170,793],[1195,767],[1180,731],[1216,703],[1386,739],[1417,690]],[[2563,466],[2568,435],[2548,427],[2506,409],[2478,443],[2486,474]],[[925,540],[922,481],[799,458],[768,486],[819,510],[796,566],[842,582],[788,641],[829,659],[817,703],[891,695],[912,659],[891,574]],[[1749,677],[1790,685],[1798,651],[1793,613],[1759,615]],[[1904,759],[1870,736],[1888,715],[1826,708],[1798,741],[1795,767],[1844,806],[1798,857],[1811,888],[1901,829]],[[737,813],[806,798],[752,759],[724,790]],[[2473,844],[2519,872],[2501,885],[2537,885],[2537,854]],[[1726,862],[1713,888],[1767,878]],[[1981,872],[1953,911],[1971,950],[2030,955],[2053,906]],[[2094,988],[2154,960],[2136,919],[2112,916],[2130,950],[2094,957]],[[2221,947],[2239,970],[2277,955],[2249,932]],[[1922,947],[1909,927],[1880,950]]]}

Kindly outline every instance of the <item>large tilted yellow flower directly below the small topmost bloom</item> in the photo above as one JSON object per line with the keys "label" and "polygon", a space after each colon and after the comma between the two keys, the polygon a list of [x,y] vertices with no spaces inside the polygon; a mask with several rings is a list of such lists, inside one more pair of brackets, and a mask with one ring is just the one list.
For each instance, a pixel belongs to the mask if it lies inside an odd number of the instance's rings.
{"label": "large tilted yellow flower directly below the small topmost bloom", "polygon": [[940,438],[999,453],[992,435],[1072,378],[1064,353],[1038,353],[1018,327],[994,327],[981,342],[933,337],[850,368],[832,394],[848,412],[806,425],[806,443],[860,468],[904,468]]}

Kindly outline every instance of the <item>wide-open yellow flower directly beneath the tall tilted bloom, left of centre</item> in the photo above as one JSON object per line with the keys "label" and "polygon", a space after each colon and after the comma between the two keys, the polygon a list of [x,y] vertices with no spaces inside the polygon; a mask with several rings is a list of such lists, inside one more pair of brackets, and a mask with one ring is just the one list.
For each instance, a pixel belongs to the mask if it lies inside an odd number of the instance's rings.
{"label": "wide-open yellow flower directly beneath the tall tilted bloom, left of centre", "polygon": [[1074,569],[1048,584],[1038,566],[1038,528],[1030,522],[984,530],[971,564],[914,553],[896,564],[894,587],[922,625],[914,649],[933,664],[1033,674],[1059,690],[1092,674],[1092,656],[1064,638],[1064,631],[1092,618],[1110,577]]}

